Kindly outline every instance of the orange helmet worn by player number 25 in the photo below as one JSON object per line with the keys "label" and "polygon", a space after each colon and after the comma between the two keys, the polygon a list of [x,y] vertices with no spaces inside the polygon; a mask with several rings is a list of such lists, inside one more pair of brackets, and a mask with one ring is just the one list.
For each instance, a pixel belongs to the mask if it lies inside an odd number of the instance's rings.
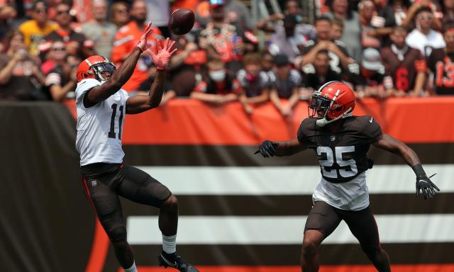
{"label": "orange helmet worn by player number 25", "polygon": [[[310,118],[319,118],[317,125],[323,127],[341,118],[351,116],[355,108],[355,93],[341,81],[329,81],[314,91],[308,107]],[[312,112],[311,112],[312,110]]]}

